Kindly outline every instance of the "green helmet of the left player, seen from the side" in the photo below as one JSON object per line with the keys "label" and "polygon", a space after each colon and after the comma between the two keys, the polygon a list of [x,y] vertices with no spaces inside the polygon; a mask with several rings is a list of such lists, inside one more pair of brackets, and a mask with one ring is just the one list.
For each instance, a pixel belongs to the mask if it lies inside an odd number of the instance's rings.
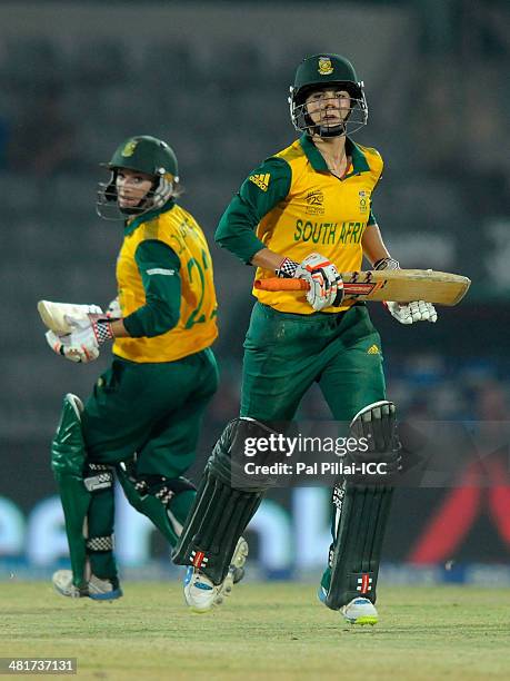
{"label": "green helmet of the left player, seen from the side", "polygon": [[[176,195],[179,184],[178,164],[173,149],[167,142],[150,135],[138,135],[124,140],[108,164],[111,170],[108,182],[100,182],[98,189],[98,215],[106,219],[124,219],[126,216],[142,215],[161,208]],[[136,208],[120,208],[117,197],[118,171],[134,170],[153,177],[153,185]]]}

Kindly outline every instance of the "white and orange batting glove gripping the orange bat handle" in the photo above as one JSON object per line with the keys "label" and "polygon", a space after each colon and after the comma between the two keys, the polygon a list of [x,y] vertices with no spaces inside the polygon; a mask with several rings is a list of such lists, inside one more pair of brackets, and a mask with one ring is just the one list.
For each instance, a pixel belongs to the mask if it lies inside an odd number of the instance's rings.
{"label": "white and orange batting glove gripping the orange bat handle", "polygon": [[332,263],[319,253],[311,253],[298,265],[294,275],[310,285],[307,300],[316,312],[330,307],[333,303],[339,305],[343,297],[343,282]]}

